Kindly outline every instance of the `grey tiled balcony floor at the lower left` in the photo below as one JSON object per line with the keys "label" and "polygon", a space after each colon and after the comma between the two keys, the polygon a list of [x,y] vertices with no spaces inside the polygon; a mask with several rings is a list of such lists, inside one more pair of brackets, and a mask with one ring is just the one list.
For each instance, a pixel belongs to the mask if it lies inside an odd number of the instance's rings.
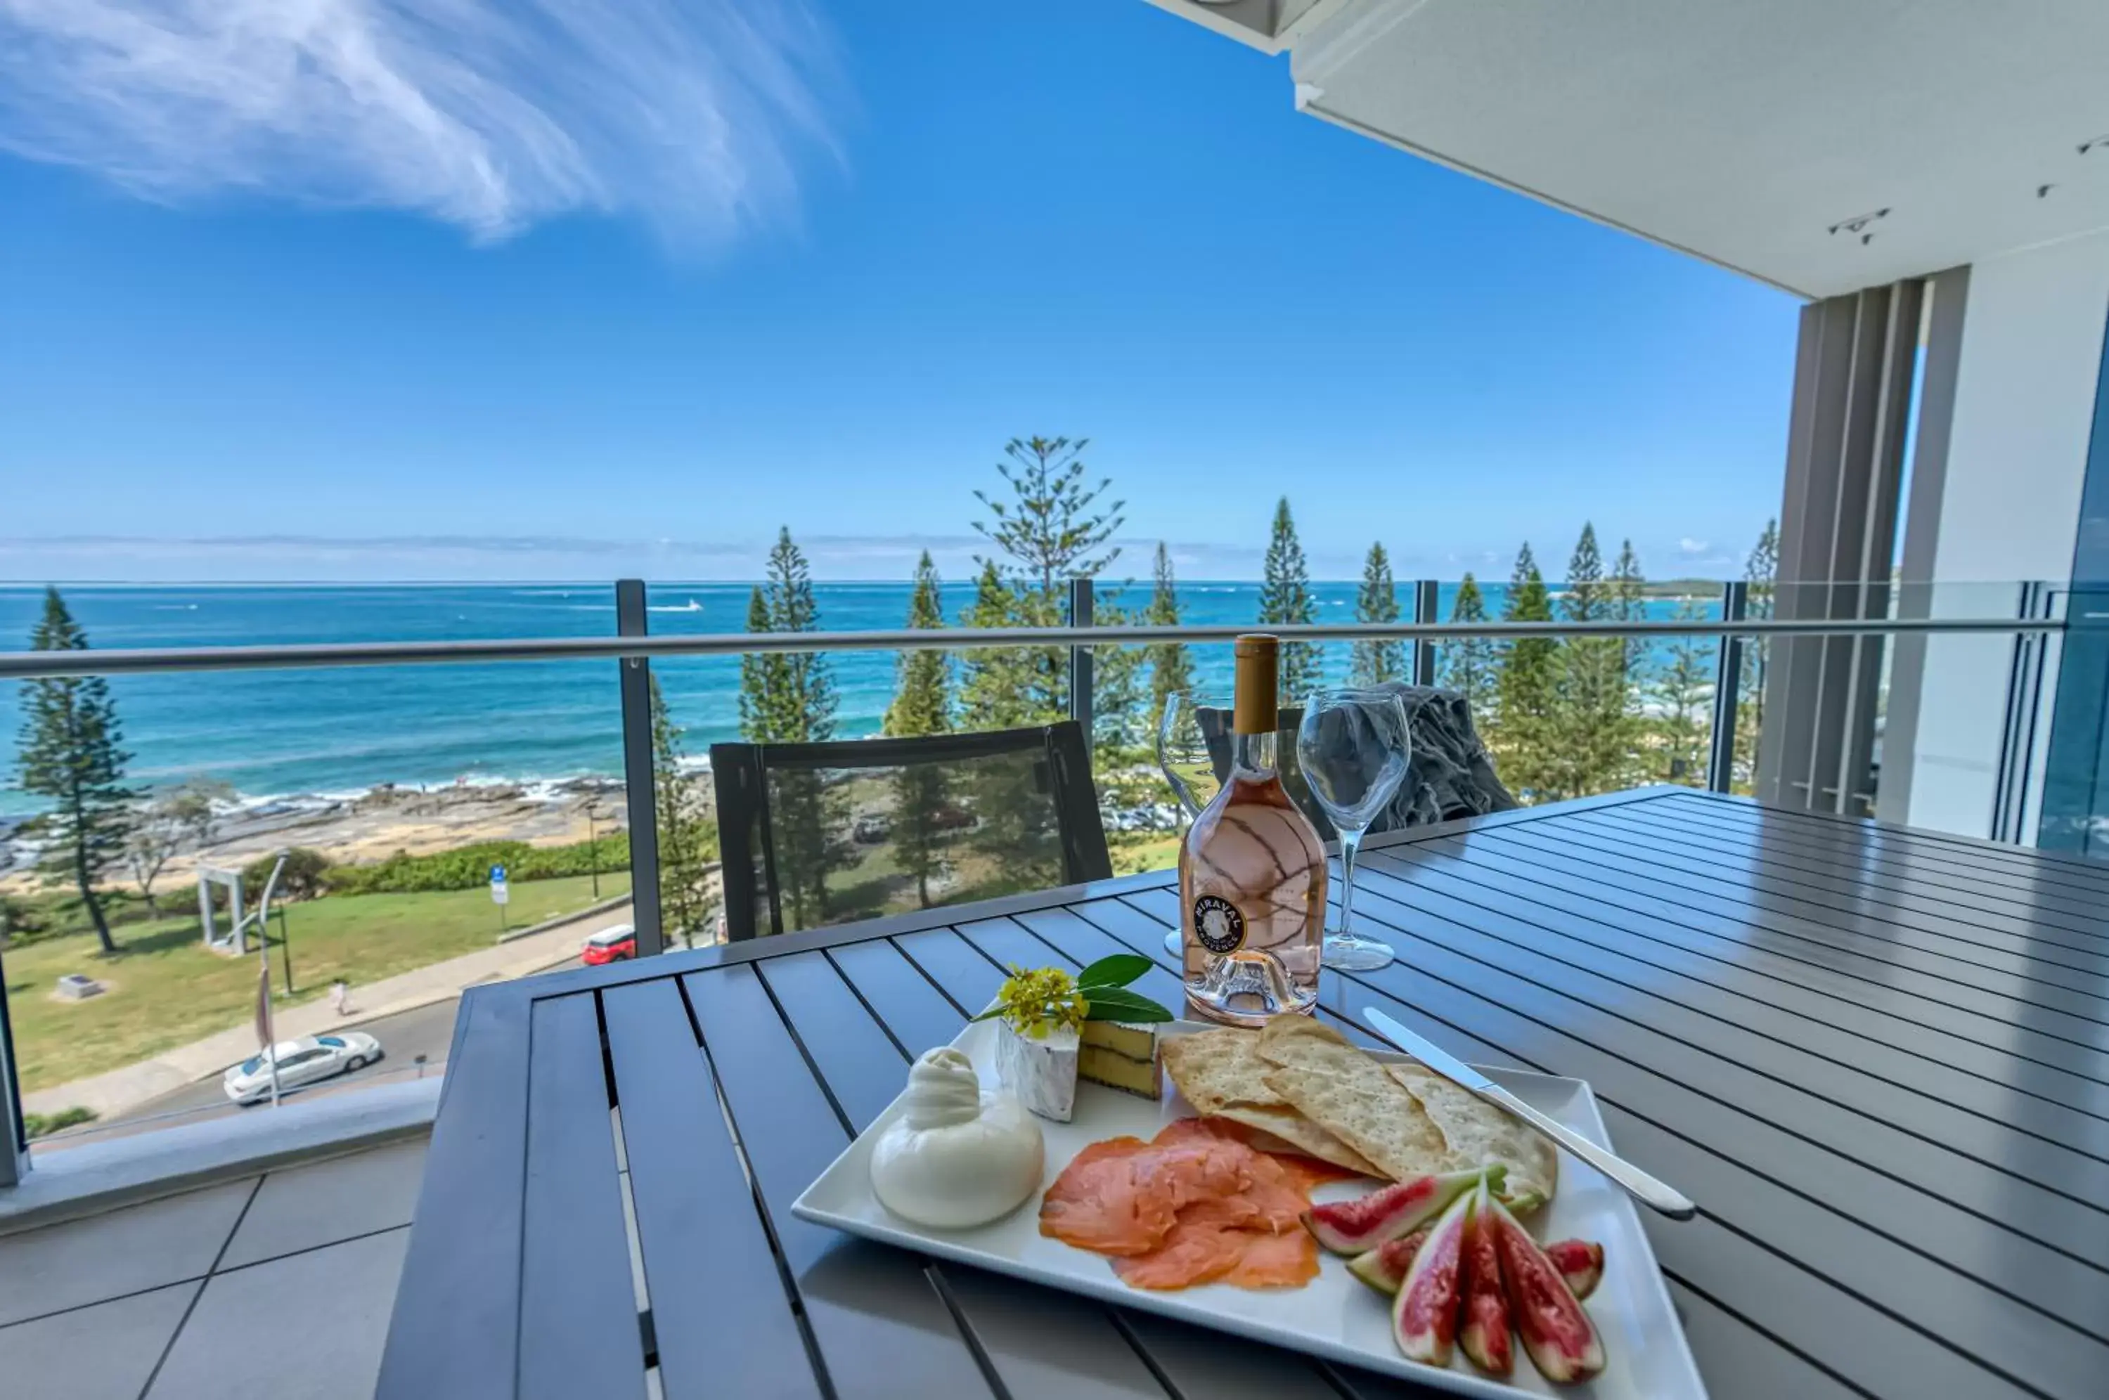
{"label": "grey tiled balcony floor at the lower left", "polygon": [[367,1400],[424,1139],[0,1238],[0,1389]]}

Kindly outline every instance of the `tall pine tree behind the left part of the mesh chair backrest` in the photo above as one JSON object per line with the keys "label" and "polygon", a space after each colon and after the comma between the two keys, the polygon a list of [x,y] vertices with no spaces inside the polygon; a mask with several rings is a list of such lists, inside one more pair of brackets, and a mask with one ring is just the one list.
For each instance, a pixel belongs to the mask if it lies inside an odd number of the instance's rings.
{"label": "tall pine tree behind the left part of the mesh chair backrest", "polygon": [[[768,580],[747,603],[751,633],[810,633],[820,624],[806,555],[791,531],[776,533]],[[761,652],[740,658],[740,732],[753,744],[823,744],[835,736],[835,681],[818,652]],[[776,778],[776,883],[793,928],[827,917],[827,877],[850,860],[839,827],[841,791],[816,772]]]}

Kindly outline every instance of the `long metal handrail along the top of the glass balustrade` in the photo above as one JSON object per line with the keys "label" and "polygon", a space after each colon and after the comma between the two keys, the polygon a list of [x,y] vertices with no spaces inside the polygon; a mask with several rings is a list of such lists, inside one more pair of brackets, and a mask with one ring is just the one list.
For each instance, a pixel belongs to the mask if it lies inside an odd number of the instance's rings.
{"label": "long metal handrail along the top of the glass balustrade", "polygon": [[1092,647],[1116,643],[1234,641],[1459,641],[1468,637],[1854,637],[1900,633],[2063,633],[2063,618],[1666,618],[1649,622],[1316,622],[1189,626],[894,628],[875,633],[694,633],[683,637],[494,637],[481,641],[323,641],[268,647],[112,647],[0,652],[0,679],[165,670],[270,670],[306,666],[430,666],[466,662],[593,660],[616,656],[738,656],[747,652],[964,652],[970,647]]}

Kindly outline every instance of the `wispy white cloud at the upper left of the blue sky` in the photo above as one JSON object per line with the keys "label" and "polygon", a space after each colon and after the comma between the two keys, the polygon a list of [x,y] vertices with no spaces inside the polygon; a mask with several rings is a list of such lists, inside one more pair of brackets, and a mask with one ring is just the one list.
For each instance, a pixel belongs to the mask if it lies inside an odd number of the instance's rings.
{"label": "wispy white cloud at the upper left of the blue sky", "polygon": [[0,0],[0,150],[154,200],[572,211],[721,242],[831,148],[804,0]]}

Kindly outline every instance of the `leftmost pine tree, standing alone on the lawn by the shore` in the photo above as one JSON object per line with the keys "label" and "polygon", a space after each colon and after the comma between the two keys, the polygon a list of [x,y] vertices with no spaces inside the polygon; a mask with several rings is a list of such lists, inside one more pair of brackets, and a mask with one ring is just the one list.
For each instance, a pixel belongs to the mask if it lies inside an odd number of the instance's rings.
{"label": "leftmost pine tree, standing alone on the lawn by the shore", "polygon": [[[86,652],[89,637],[57,588],[44,590],[44,616],[30,633],[36,652]],[[44,677],[21,683],[21,746],[15,782],[53,805],[38,818],[46,843],[44,875],[72,881],[95,923],[103,953],[116,953],[97,883],[124,860],[131,803],[124,786],[131,755],[120,748],[116,702],[101,677]]]}

